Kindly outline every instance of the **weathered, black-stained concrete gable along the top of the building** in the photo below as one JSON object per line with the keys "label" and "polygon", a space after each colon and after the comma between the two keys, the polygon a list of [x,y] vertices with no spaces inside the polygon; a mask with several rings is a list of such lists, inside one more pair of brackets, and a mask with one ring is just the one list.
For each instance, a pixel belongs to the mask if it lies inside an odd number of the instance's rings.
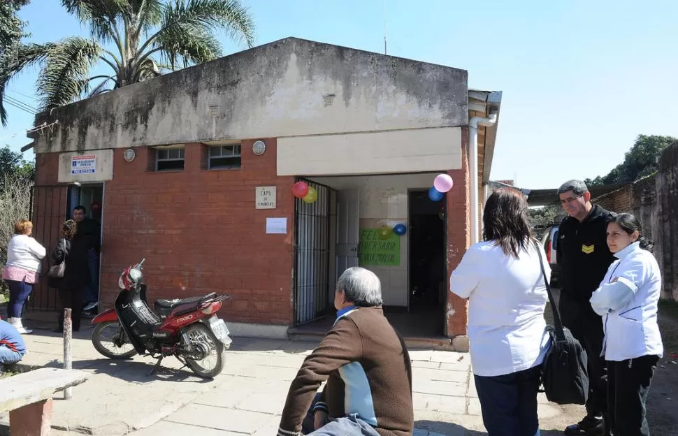
{"label": "weathered, black-stained concrete gable along the top of the building", "polygon": [[36,152],[463,126],[466,71],[286,38],[36,117]]}

